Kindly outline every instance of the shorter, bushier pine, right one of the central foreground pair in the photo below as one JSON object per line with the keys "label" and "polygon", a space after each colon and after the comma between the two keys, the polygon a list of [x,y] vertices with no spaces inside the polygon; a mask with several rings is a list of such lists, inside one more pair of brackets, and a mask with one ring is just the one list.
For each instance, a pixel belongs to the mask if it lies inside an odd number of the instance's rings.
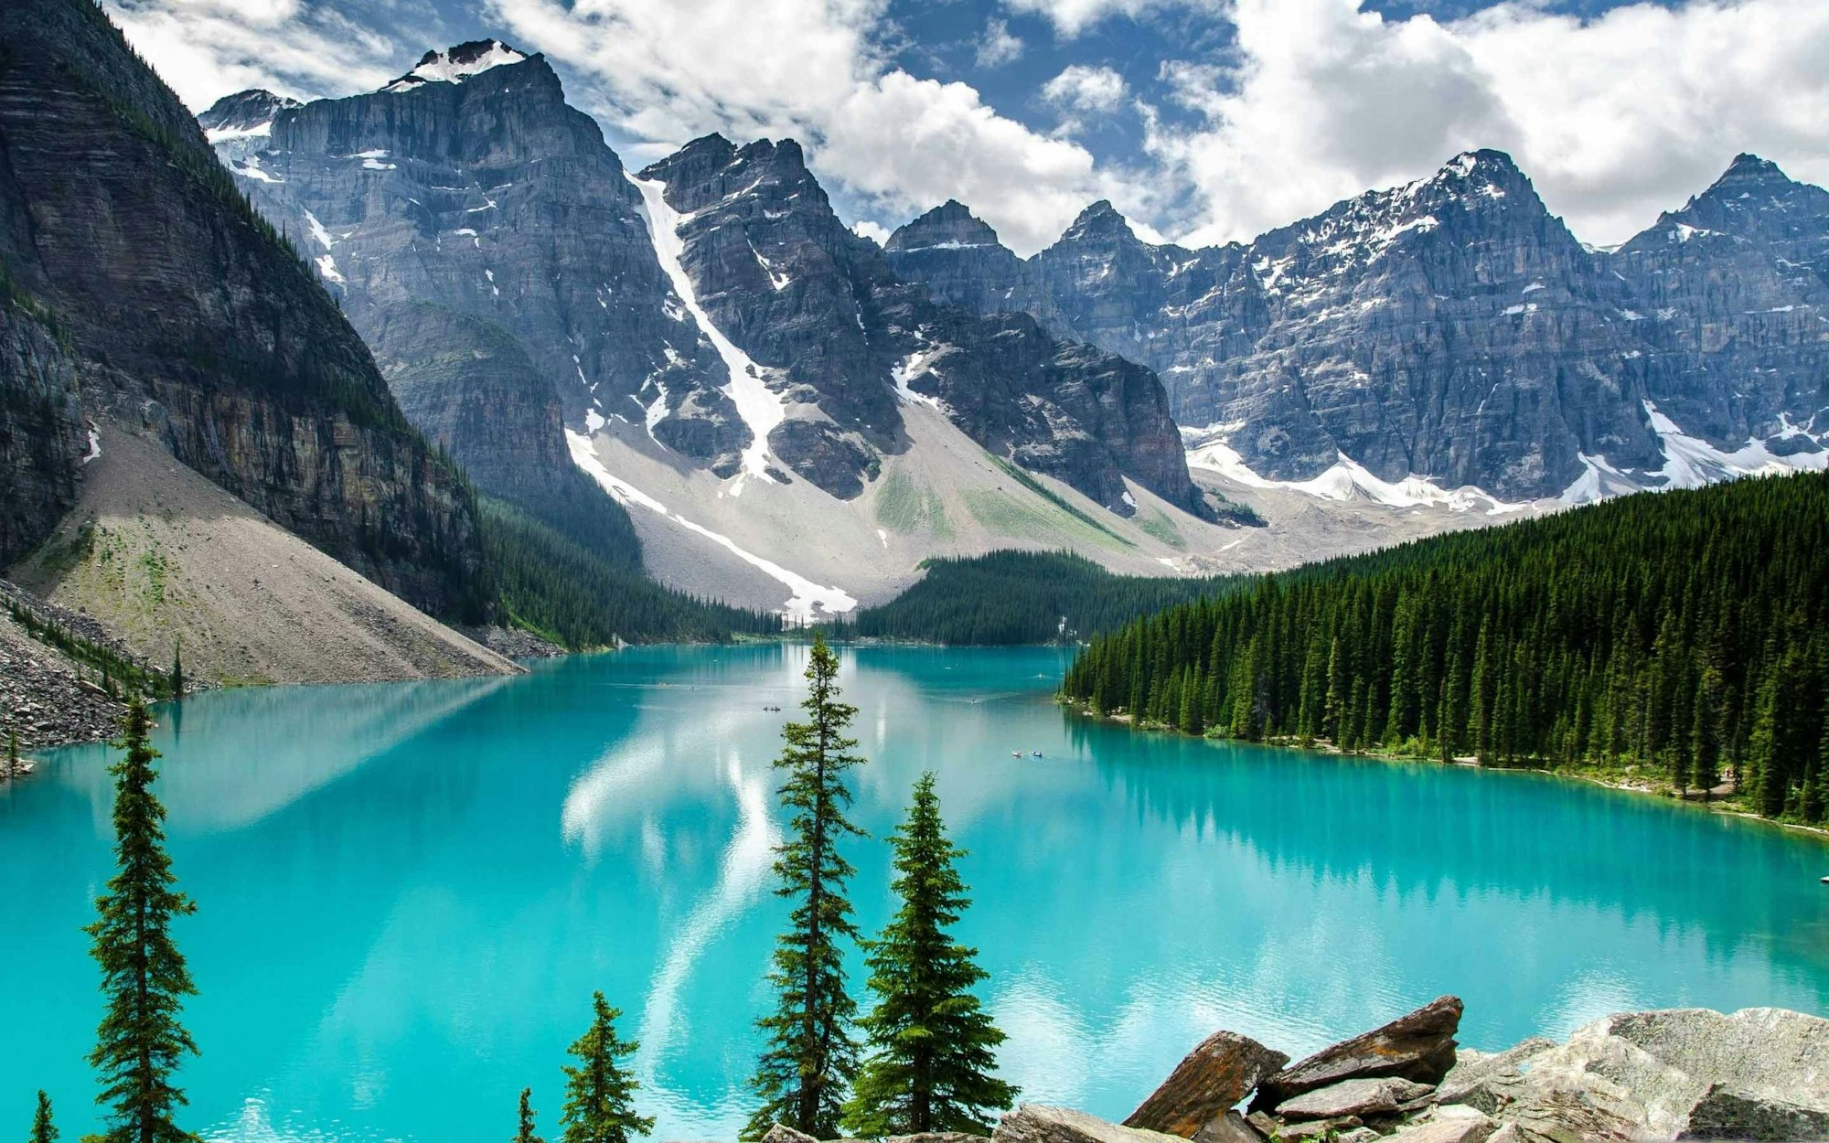
{"label": "shorter, bushier pine, right one of the central foreground pair", "polygon": [[931,772],[914,783],[914,803],[891,843],[902,907],[869,945],[871,1057],[845,1127],[865,1138],[988,1136],[986,1112],[1008,1108],[1017,1090],[991,1075],[1004,1033],[971,995],[986,978],[977,949],[947,935],[971,902],[955,867],[964,850],[946,836]]}

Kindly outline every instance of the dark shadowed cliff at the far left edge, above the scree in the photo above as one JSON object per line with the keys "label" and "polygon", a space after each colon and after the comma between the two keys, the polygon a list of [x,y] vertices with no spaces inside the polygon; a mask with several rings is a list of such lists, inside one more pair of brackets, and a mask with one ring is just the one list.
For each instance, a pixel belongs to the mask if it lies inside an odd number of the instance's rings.
{"label": "dark shadowed cliff at the far left edge, above the scree", "polygon": [[[410,432],[311,271],[249,210],[198,124],[91,4],[0,9],[5,554],[68,503],[77,415],[170,452],[410,602],[481,614],[474,503]],[[132,113],[126,112],[132,108]],[[20,318],[20,309],[26,318]],[[37,316],[33,316],[37,315]],[[53,333],[53,351],[42,333]],[[80,393],[73,415],[71,386]],[[18,393],[37,410],[13,413]]]}

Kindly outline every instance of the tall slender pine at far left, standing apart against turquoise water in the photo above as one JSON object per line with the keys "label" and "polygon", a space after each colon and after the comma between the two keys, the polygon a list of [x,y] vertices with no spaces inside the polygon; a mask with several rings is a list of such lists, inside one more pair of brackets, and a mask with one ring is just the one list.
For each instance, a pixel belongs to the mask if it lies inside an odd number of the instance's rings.
{"label": "tall slender pine at far left, standing apart against turquoise water", "polygon": [[117,748],[124,757],[115,775],[115,865],[108,892],[95,900],[99,918],[88,925],[91,955],[102,969],[108,997],[95,1031],[90,1066],[101,1075],[95,1097],[110,1105],[106,1143],[194,1143],[174,1119],[188,1101],[172,1084],[185,1055],[198,1046],[177,1022],[185,997],[196,995],[185,956],[172,942],[172,918],[196,905],[174,889],[172,860],[165,852],[165,807],[152,794],[157,779],[146,744],[146,704],[128,702]]}

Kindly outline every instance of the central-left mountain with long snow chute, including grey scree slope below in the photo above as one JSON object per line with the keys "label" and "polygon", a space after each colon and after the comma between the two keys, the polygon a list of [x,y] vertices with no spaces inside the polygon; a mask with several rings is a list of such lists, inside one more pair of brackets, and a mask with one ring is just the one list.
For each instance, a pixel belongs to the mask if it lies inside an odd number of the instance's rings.
{"label": "central-left mountain with long snow chute, including grey scree slope below", "polygon": [[713,135],[631,174],[545,59],[496,40],[199,121],[415,426],[572,539],[627,527],[556,508],[589,472],[666,583],[807,613],[936,552],[1139,571],[1220,547],[1183,534],[1207,499],[1147,368],[898,280],[792,141]]}

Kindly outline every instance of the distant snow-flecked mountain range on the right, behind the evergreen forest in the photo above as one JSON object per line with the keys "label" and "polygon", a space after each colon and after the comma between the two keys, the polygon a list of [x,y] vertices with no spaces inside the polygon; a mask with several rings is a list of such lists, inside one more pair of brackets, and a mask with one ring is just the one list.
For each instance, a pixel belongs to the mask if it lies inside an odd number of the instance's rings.
{"label": "distant snow-flecked mountain range on the right, behind the evergreen forest", "polygon": [[[1717,243],[1677,252],[1708,260],[1688,285],[1653,265],[1646,241],[1613,256],[1582,247],[1491,150],[1251,243],[1150,245],[1096,203],[1057,243],[1017,260],[947,203],[885,249],[898,274],[940,298],[980,313],[1021,309],[1156,369],[1196,466],[1247,486],[1502,508],[1683,483],[1690,470],[1756,470],[1774,457],[1814,463],[1820,446],[1800,430],[1822,404],[1824,369],[1809,347],[1820,342],[1807,309],[1814,294],[1798,293],[1814,274],[1792,267],[1789,285],[1747,285],[1769,302],[1765,316],[1708,283],[1708,274],[1774,278],[1785,258],[1813,265],[1829,212],[1814,188],[1785,183],[1765,177],[1759,194],[1736,187],[1749,198],[1732,199],[1741,218],[1778,232],[1706,227],[1710,196],[1688,208],[1705,221],[1666,218],[1652,230],[1721,230]],[[1730,252],[1758,265],[1728,265]],[[1672,289],[1686,300],[1666,296]],[[1666,329],[1685,305],[1688,333]],[[1791,346],[1778,349],[1792,362],[1785,386],[1774,382],[1783,397],[1730,399],[1728,375],[1772,366],[1721,355],[1723,322],[1745,331],[1738,346]],[[1747,413],[1701,411],[1723,404]],[[1749,452],[1749,439],[1758,448]]]}

